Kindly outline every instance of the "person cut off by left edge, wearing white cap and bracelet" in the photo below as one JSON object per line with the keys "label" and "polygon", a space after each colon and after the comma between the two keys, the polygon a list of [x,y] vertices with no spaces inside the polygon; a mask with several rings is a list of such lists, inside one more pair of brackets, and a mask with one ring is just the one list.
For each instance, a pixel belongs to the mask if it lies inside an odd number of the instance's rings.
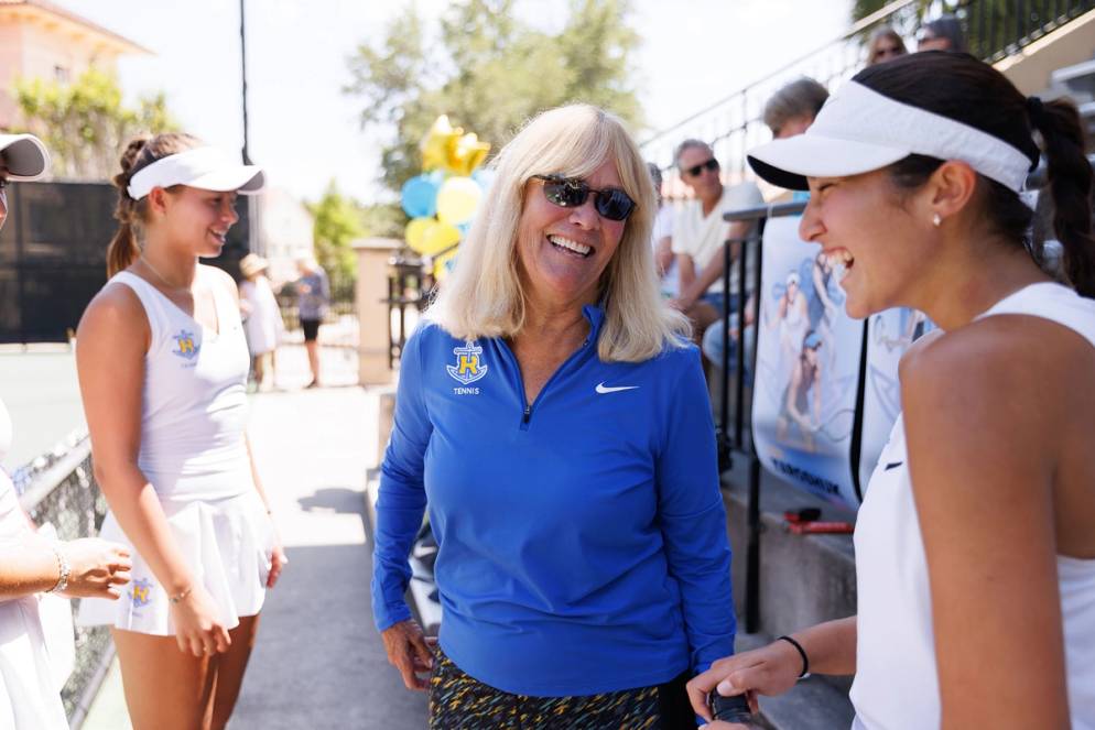
{"label": "person cut off by left edge, wearing white cap and bracelet", "polygon": [[[0,134],[0,227],[8,218],[8,183],[37,179],[48,165],[37,138]],[[0,460],[12,439],[11,418],[0,401]],[[50,654],[41,597],[116,601],[129,582],[130,567],[124,545],[95,537],[55,542],[35,532],[14,484],[0,469],[0,728],[67,730],[58,691],[64,671]],[[71,618],[64,629],[72,629]]]}

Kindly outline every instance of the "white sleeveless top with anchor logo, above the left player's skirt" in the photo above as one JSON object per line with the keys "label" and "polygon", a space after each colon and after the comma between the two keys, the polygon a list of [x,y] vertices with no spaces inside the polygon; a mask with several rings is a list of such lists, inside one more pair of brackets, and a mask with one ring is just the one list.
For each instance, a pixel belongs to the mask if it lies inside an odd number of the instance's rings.
{"label": "white sleeveless top with anchor logo, above the left player's skirt", "polygon": [[239,308],[213,286],[219,331],[143,279],[116,274],[141,299],[152,334],[144,356],[138,465],[161,499],[234,497],[253,489],[245,445],[250,358]]}

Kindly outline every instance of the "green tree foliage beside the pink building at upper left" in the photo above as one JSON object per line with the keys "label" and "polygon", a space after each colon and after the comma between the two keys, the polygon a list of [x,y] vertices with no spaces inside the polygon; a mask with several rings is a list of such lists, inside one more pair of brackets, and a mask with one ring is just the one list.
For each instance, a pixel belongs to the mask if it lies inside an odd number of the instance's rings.
{"label": "green tree foliage beside the pink building at upper left", "polygon": [[54,177],[107,179],[121,151],[140,133],[176,129],[163,94],[122,103],[118,79],[89,68],[72,84],[41,78],[19,79],[15,99],[26,129],[50,149]]}

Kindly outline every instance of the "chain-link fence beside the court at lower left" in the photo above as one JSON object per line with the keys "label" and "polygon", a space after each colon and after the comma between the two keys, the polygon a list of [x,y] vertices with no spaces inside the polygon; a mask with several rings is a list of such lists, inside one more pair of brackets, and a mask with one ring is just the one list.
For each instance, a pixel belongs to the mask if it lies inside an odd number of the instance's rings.
{"label": "chain-link fence beside the court at lower left", "polygon": [[[20,503],[35,524],[52,524],[61,540],[99,534],[107,502],[91,469],[91,442],[86,433],[68,439],[67,448],[40,457],[15,475]],[[73,611],[79,601],[73,601]],[[76,662],[61,693],[65,713],[78,728],[98,690],[107,664],[113,655],[107,627],[77,627]]]}

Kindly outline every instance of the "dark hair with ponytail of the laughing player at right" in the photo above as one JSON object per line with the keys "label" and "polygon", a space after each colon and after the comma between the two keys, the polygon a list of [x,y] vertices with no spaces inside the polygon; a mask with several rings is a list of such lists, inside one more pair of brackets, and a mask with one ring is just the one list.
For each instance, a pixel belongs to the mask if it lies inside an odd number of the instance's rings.
{"label": "dark hair with ponytail of the laughing player at right", "polygon": [[[1084,155],[1084,135],[1075,105],[1067,99],[1042,103],[1027,99],[1001,73],[968,54],[925,52],[859,72],[853,79],[890,99],[968,124],[1007,142],[1037,165],[1037,130],[1042,139],[1053,228],[1064,248],[1064,271],[1075,290],[1095,297],[1095,239],[1092,238],[1092,167]],[[913,154],[889,167],[901,189],[914,189],[943,164]],[[1001,238],[1024,246],[1039,265],[1041,247],[1030,240],[1033,210],[1019,195],[984,175],[984,218]]]}

